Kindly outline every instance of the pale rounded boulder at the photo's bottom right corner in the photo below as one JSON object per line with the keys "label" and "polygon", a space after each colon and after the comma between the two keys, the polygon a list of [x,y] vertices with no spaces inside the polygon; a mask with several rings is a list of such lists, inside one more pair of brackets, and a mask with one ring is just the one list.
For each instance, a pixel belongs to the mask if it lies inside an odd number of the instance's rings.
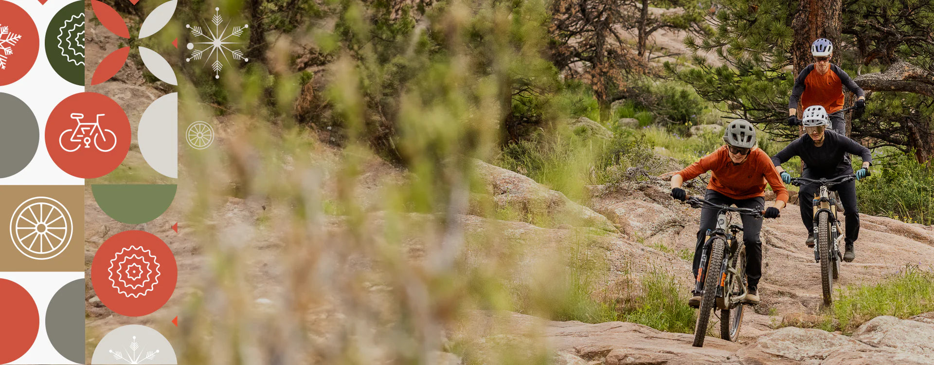
{"label": "pale rounded boulder at the photo's bottom right corner", "polygon": [[853,332],[853,338],[873,347],[934,358],[934,325],[894,316],[877,316]]}

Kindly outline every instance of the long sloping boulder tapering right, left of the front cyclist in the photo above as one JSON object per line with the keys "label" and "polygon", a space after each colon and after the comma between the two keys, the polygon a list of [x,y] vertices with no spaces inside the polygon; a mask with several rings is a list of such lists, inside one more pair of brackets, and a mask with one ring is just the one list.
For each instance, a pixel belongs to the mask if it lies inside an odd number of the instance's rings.
{"label": "long sloping boulder tapering right, left of the front cyclist", "polygon": [[567,223],[618,232],[613,223],[590,208],[576,204],[559,191],[550,190],[529,176],[476,160],[477,175],[484,180],[486,192],[499,209],[509,209],[517,217],[532,223]]}

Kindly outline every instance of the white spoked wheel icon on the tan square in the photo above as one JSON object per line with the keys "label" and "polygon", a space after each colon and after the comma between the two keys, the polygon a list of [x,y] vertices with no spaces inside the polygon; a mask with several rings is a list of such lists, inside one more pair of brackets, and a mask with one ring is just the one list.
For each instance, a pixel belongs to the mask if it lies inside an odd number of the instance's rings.
{"label": "white spoked wheel icon on the tan square", "polygon": [[9,220],[13,245],[35,260],[49,260],[61,254],[71,242],[72,229],[68,209],[47,197],[22,202]]}

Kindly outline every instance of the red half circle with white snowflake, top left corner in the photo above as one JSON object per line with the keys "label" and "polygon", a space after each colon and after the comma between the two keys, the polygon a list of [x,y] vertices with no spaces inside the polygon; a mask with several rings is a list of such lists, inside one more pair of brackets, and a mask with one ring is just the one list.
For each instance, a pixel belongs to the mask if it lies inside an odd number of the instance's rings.
{"label": "red half circle with white snowflake, top left corner", "polygon": [[0,0],[0,28],[7,28],[4,39],[12,36],[15,44],[9,46],[12,54],[0,51],[0,60],[4,67],[0,68],[0,85],[9,85],[29,72],[39,54],[39,32],[35,30],[35,23],[21,7],[8,1]]}

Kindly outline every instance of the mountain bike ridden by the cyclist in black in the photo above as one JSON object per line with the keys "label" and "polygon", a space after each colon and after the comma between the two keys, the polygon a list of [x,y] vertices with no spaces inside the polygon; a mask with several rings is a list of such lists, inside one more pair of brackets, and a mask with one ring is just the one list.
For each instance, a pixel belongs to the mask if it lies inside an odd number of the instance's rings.
{"label": "mountain bike ridden by the cyclist in black", "polygon": [[[830,195],[830,187],[856,179],[856,175],[842,175],[834,178],[810,179],[795,177],[791,185],[800,187],[804,184],[818,184],[814,193],[814,261],[820,263],[821,288],[824,291],[824,305],[833,302],[833,281],[840,277],[840,263],[843,260],[840,245],[844,235],[837,219],[837,201]],[[800,198],[799,198],[800,199]]]}

